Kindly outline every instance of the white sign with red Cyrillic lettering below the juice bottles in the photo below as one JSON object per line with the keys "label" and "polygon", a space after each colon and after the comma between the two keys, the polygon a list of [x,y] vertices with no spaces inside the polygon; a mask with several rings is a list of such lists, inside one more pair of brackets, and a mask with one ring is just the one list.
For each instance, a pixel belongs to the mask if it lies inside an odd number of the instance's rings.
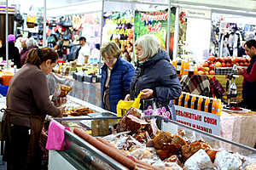
{"label": "white sign with red Cyrillic lettering below the juice bottles", "polygon": [[175,105],[176,121],[214,135],[220,134],[218,115]]}

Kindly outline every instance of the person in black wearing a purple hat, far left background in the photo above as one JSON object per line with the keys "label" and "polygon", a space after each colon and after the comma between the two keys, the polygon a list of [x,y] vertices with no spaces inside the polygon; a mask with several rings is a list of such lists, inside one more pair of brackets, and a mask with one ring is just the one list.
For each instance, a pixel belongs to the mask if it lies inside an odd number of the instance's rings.
{"label": "person in black wearing a purple hat, far left background", "polygon": [[[19,49],[15,47],[15,35],[9,34],[8,35],[8,52],[9,52],[9,58],[12,61],[14,61],[14,65],[17,66],[17,68],[21,67],[20,64],[20,53]],[[3,46],[3,60],[6,60],[6,46]]]}

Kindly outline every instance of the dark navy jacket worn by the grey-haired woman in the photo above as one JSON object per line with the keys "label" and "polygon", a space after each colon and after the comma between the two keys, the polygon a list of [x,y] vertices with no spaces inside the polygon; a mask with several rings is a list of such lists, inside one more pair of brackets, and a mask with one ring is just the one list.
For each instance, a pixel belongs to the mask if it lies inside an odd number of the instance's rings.
{"label": "dark navy jacket worn by the grey-haired woman", "polygon": [[137,67],[131,80],[131,99],[135,99],[145,88],[154,90],[157,102],[171,107],[172,119],[176,120],[172,100],[180,96],[182,87],[175,68],[170,63],[169,55],[163,49],[159,49],[158,54]]}

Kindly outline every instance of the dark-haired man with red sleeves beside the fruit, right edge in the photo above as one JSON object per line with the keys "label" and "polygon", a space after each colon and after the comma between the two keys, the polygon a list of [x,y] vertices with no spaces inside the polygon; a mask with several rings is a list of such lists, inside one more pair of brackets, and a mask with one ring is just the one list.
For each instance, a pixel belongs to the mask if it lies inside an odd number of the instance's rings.
{"label": "dark-haired man with red sleeves beside the fruit, right edge", "polygon": [[246,54],[251,57],[250,65],[245,69],[238,69],[238,74],[243,76],[242,99],[247,109],[256,111],[256,41],[249,40],[244,45]]}

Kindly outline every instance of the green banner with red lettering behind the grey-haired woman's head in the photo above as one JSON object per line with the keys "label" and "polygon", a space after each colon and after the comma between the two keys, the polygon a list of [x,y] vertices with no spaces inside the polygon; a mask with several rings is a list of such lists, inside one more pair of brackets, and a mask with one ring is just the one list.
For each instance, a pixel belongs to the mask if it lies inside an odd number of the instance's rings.
{"label": "green banner with red lettering behind the grey-haired woman's head", "polygon": [[[154,12],[135,12],[135,38],[142,37],[145,34],[154,34],[160,39],[161,48],[166,49],[167,40],[167,18],[168,10],[154,11]],[[171,33],[174,32],[175,15],[171,14]],[[172,36],[171,36],[172,38]],[[171,40],[170,40],[171,41]],[[172,43],[173,44],[173,43]]]}

